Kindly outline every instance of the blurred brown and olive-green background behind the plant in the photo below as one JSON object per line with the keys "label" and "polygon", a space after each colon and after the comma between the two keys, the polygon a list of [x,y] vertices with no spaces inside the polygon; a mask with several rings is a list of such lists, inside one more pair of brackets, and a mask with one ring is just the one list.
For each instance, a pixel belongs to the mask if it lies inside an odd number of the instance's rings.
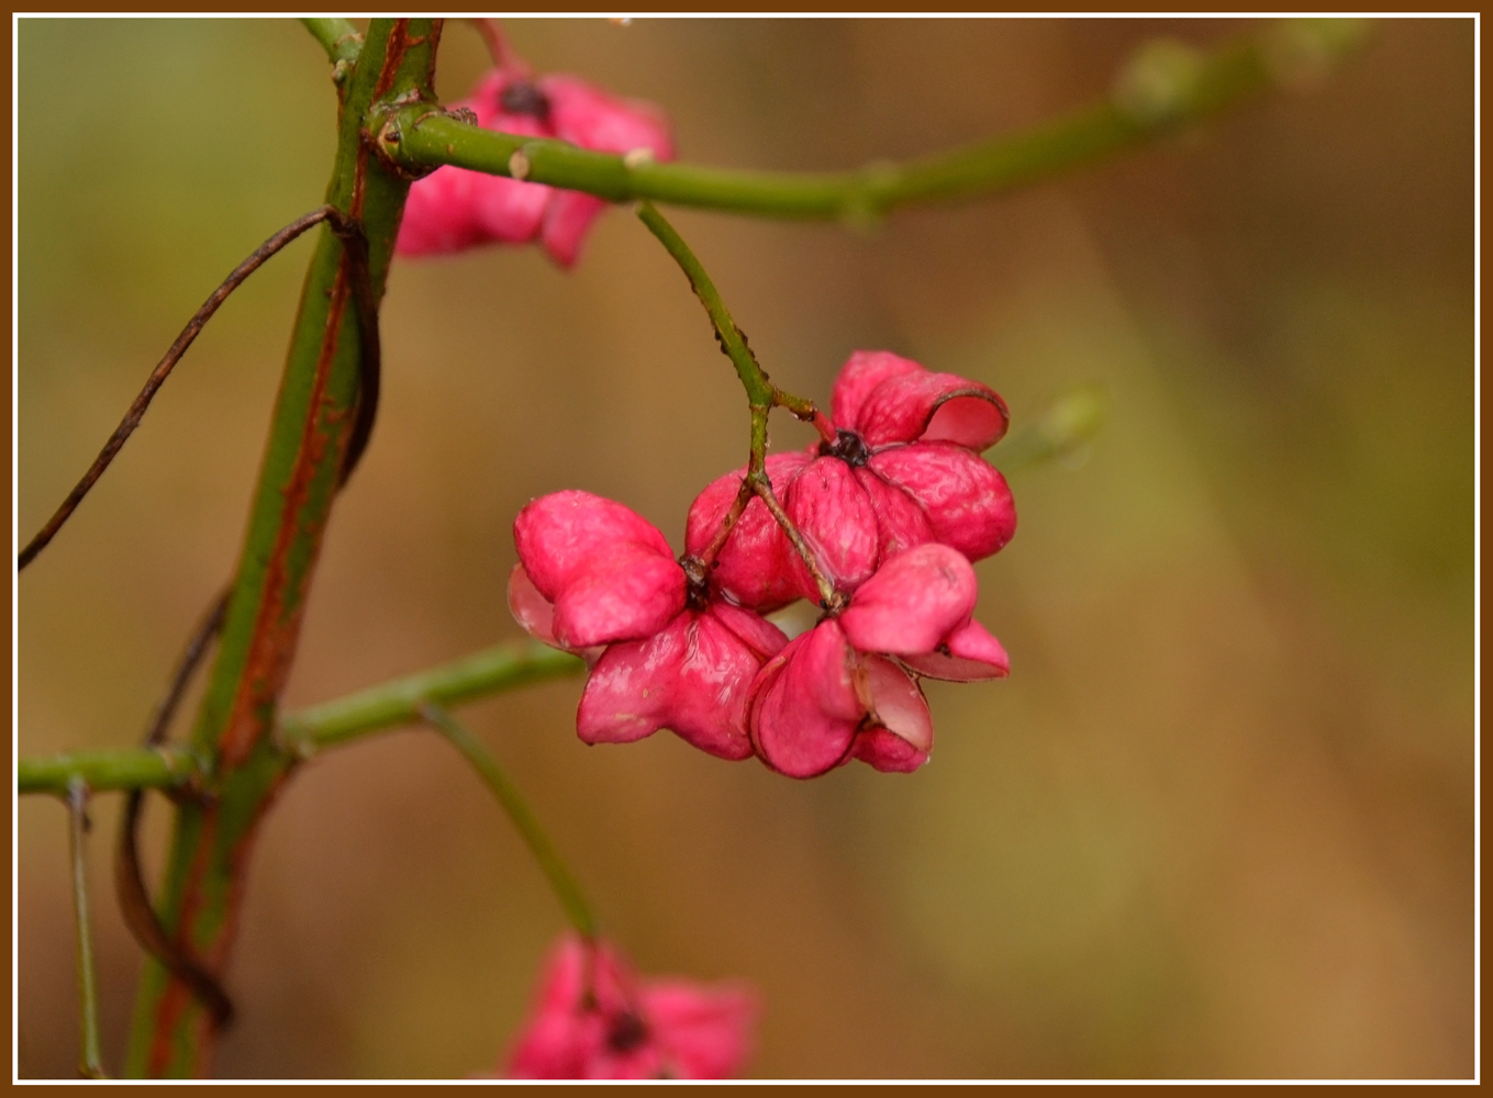
{"label": "blurred brown and olive-green background behind the plant", "polygon": [[[685,158],[781,169],[1033,124],[1147,40],[1247,30],[511,24],[540,70],[664,104]],[[320,201],[334,98],[287,19],[24,19],[18,51],[30,536],[208,291]],[[466,710],[640,968],[761,988],[752,1074],[1471,1074],[1472,64],[1471,21],[1390,19],[1318,87],[1024,195],[861,234],[678,213],[796,392],[890,348],[994,385],[1015,430],[1073,383],[1112,397],[1085,464],[1014,476],[1020,533],[978,567],[1014,671],[930,685],[917,776],[587,749],[578,682]],[[442,94],[482,69],[449,25]],[[233,567],[308,255],[224,307],[22,577],[22,752],[139,737]],[[290,706],[517,637],[530,497],[621,498],[678,545],[745,451],[699,306],[623,212],[572,274],[532,248],[399,263],[384,331]],[[118,800],[91,865],[113,1070],[140,967]],[[64,822],[19,806],[22,1076],[76,1064]],[[263,829],[216,1070],[491,1070],[560,928],[437,737],[330,753]]]}

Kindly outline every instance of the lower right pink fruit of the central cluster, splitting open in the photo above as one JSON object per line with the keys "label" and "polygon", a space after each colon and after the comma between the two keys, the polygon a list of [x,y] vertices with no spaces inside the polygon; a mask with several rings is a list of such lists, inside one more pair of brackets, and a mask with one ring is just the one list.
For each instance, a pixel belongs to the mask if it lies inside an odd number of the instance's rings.
{"label": "lower right pink fruit of the central cluster, splitting open", "polygon": [[970,618],[975,570],[924,543],[884,562],[844,613],[791,640],[758,673],[748,731],[761,761],[817,777],[858,758],[912,771],[933,750],[933,718],[909,670],[970,682],[1003,677],[1006,652]]}

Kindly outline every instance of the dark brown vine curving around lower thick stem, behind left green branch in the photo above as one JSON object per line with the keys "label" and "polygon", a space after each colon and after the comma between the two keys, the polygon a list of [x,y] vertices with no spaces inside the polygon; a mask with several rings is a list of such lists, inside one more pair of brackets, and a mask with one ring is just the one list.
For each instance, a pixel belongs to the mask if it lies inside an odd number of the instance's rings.
{"label": "dark brown vine curving around lower thick stem, behind left green branch", "polygon": [[[187,649],[176,664],[176,671],[172,674],[172,683],[166,691],[166,697],[161,698],[151,718],[151,727],[145,734],[146,747],[158,747],[166,741],[166,732],[170,728],[172,718],[176,715],[176,709],[181,706],[182,697],[187,694],[193,673],[202,665],[203,656],[208,655],[213,639],[222,631],[230,594],[231,589],[225,589],[213,600],[208,615],[187,643]],[[119,846],[115,850],[113,861],[113,885],[115,894],[119,898],[119,912],[124,915],[124,923],[146,953],[155,956],[172,976],[191,988],[193,994],[203,1001],[212,1014],[213,1025],[218,1028],[227,1026],[233,1020],[233,1001],[228,998],[228,994],[218,983],[216,977],[206,970],[202,961],[191,955],[185,943],[175,941],[166,932],[154,904],[151,904],[151,897],[145,891],[139,850],[140,812],[143,807],[145,791],[131,789],[124,800],[124,815],[119,822]]]}

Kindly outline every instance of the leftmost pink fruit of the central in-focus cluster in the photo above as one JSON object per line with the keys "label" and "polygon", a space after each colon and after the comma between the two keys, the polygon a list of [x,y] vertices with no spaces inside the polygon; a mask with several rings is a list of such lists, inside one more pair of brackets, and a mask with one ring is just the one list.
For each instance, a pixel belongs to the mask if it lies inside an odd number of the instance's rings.
{"label": "leftmost pink fruit of the central in-focus cluster", "polygon": [[751,756],[746,691],[787,643],[776,627],[711,595],[657,527],[590,492],[534,500],[514,540],[514,616],[591,665],[582,740],[629,743],[669,728],[711,755]]}

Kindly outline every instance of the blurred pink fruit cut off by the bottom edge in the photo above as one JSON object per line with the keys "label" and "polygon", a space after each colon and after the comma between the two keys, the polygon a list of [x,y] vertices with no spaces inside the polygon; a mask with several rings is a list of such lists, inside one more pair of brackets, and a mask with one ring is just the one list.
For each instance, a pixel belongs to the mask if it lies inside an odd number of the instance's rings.
{"label": "blurred pink fruit cut off by the bottom edge", "polygon": [[730,1079],[751,1053],[757,997],[739,985],[639,980],[605,941],[551,950],[509,1079]]}

